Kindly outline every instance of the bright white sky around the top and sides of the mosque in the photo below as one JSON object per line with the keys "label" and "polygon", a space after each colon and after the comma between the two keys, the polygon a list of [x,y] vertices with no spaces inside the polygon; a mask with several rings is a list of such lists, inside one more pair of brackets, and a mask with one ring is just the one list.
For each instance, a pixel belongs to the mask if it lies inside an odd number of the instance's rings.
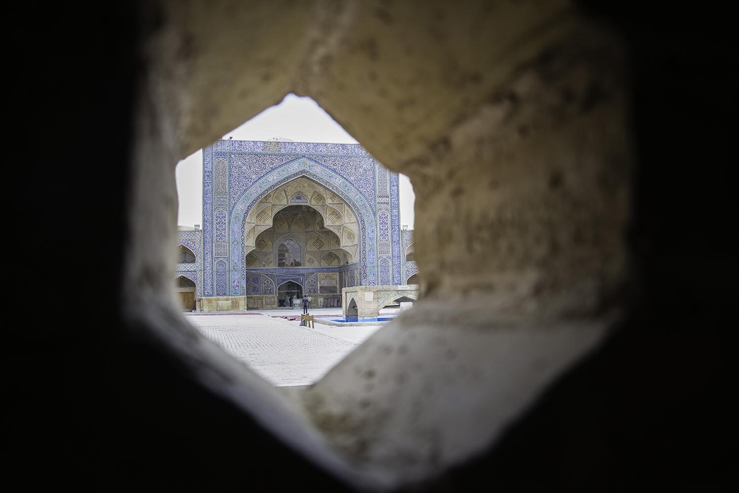
{"label": "bright white sky around the top and sides of the mosque", "polygon": [[[223,138],[268,140],[280,137],[296,142],[357,143],[327,112],[310,98],[288,94],[282,103],[270,106],[254,118],[228,132]],[[202,224],[202,149],[177,163],[177,194],[180,210],[177,224]],[[401,174],[401,225],[413,228],[415,194],[408,177]]]}

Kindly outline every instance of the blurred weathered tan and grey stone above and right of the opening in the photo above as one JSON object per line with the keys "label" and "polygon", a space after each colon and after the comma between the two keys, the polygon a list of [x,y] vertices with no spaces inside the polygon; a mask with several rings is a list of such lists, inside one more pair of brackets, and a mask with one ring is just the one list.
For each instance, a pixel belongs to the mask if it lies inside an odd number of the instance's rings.
{"label": "blurred weathered tan and grey stone above and right of the opening", "polygon": [[[290,90],[409,175],[422,299],[304,392],[290,412],[310,431],[285,438],[307,450],[320,432],[334,447],[320,461],[348,480],[423,480],[494,443],[617,319],[632,163],[621,42],[559,2],[285,7],[166,4],[139,187],[173,188],[169,163]],[[137,216],[171,209],[150,195]]]}

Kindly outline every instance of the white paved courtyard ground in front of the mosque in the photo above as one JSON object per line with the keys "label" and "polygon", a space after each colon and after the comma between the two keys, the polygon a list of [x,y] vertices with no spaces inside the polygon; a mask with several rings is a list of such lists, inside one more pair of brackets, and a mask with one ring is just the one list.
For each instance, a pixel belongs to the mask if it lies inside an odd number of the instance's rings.
{"label": "white paved courtyard ground in front of the mosque", "polygon": [[[326,313],[322,313],[324,311]],[[336,309],[330,308],[311,310],[314,315],[334,312]],[[382,327],[333,327],[316,323],[316,328],[311,329],[300,327],[299,320],[270,316],[294,314],[299,317],[299,310],[260,313],[265,315],[185,313],[185,318],[203,336],[277,387],[313,384]],[[341,316],[341,308],[336,316]],[[316,318],[316,322],[320,319]]]}

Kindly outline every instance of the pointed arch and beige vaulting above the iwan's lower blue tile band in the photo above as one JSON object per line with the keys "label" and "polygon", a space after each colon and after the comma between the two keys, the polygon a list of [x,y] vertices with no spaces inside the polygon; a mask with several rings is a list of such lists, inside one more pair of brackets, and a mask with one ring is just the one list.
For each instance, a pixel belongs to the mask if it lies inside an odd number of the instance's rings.
{"label": "pointed arch and beige vaulting above the iwan's lower blue tile band", "polygon": [[[287,262],[279,265],[279,246],[286,239],[299,245],[302,268],[352,265],[347,269],[353,271],[353,282],[357,282],[354,279],[375,282],[376,259],[367,256],[367,251],[375,251],[370,238],[377,234],[372,207],[357,189],[333,183],[332,180],[344,183],[338,174],[320,163],[313,163],[316,170],[320,170],[316,174],[307,169],[307,164],[308,160],[301,157],[274,169],[260,183],[274,182],[275,186],[248,188],[231,211],[231,222],[241,227],[231,228],[229,248],[233,258],[241,259],[241,268],[237,269],[241,277],[240,289],[246,290],[248,295],[253,295],[253,285],[247,287],[252,269],[298,267]],[[305,228],[306,225],[309,227]],[[312,225],[315,225],[312,231],[315,234],[294,237],[296,230],[307,233]],[[291,232],[289,238],[277,234],[287,230]],[[273,240],[271,245],[270,239]],[[285,244],[283,250],[288,252],[290,248]],[[335,255],[327,256],[327,250],[333,250]],[[232,285],[234,293],[239,292],[239,283]]]}

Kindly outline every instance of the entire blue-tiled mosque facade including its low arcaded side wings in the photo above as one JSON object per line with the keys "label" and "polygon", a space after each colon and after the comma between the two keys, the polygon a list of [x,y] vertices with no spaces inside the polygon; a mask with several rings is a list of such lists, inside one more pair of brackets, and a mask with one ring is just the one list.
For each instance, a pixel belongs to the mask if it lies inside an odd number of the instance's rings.
{"label": "entire blue-tiled mosque facade including its low arcaded side wings", "polygon": [[406,285],[418,271],[398,174],[359,144],[219,140],[202,150],[202,228],[178,229],[185,308],[282,307],[304,293],[333,307],[342,288]]}

